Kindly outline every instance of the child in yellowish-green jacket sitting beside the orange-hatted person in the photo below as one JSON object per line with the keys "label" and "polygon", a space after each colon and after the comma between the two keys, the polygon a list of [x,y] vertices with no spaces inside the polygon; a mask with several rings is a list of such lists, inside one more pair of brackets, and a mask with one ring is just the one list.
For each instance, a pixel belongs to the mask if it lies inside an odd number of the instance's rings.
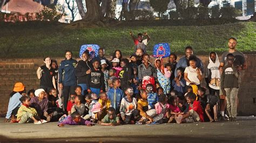
{"label": "child in yellowish-green jacket sitting beside the orange-hatted person", "polygon": [[37,116],[37,111],[35,108],[30,108],[30,101],[29,97],[22,96],[19,98],[19,101],[22,102],[21,107],[17,112],[17,121],[18,123],[28,123],[30,120],[33,120],[34,124],[43,124],[47,123],[46,120],[40,119]]}

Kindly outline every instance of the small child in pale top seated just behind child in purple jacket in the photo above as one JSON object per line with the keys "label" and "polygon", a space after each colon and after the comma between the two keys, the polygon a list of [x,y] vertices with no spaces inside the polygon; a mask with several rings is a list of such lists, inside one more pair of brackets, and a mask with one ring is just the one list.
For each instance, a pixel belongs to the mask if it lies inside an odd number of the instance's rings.
{"label": "small child in pale top seated just behind child in purple jacket", "polygon": [[71,114],[73,112],[78,112],[80,114],[81,117],[84,116],[84,112],[85,112],[85,105],[83,103],[81,103],[82,101],[82,95],[78,95],[75,98],[75,104],[72,106],[71,108]]}

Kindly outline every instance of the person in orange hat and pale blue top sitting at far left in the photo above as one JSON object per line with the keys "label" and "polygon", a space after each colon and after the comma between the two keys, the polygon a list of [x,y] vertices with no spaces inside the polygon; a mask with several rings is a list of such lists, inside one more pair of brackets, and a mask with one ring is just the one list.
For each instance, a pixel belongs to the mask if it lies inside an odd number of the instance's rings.
{"label": "person in orange hat and pale blue top sitting at far left", "polygon": [[12,90],[10,94],[9,104],[8,104],[8,110],[5,116],[5,122],[8,122],[10,117],[16,118],[17,111],[19,109],[19,106],[21,106],[21,101],[19,101],[19,98],[22,97],[22,95],[25,94],[25,85],[21,82],[17,82],[14,85],[14,90]]}

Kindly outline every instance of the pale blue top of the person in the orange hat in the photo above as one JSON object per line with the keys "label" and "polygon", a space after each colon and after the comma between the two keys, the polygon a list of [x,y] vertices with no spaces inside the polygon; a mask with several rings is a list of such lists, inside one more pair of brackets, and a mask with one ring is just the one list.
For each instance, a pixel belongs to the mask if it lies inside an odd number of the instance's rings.
{"label": "pale blue top of the person in the orange hat", "polygon": [[9,100],[9,104],[8,104],[8,110],[6,113],[6,119],[9,119],[11,117],[11,113],[12,111],[14,111],[15,108],[17,108],[17,106],[21,106],[21,101],[19,101],[19,98],[21,98],[22,95],[19,94],[19,92],[17,92],[16,94],[12,95],[12,97]]}

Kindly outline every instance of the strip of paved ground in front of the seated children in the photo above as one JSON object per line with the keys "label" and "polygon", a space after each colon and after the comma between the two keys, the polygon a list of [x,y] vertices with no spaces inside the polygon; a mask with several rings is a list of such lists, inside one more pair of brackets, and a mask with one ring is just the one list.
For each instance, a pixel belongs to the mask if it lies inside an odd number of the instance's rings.
{"label": "strip of paved ground in front of the seated children", "polygon": [[0,142],[256,142],[255,117],[236,122],[64,126],[4,123],[0,118]]}

